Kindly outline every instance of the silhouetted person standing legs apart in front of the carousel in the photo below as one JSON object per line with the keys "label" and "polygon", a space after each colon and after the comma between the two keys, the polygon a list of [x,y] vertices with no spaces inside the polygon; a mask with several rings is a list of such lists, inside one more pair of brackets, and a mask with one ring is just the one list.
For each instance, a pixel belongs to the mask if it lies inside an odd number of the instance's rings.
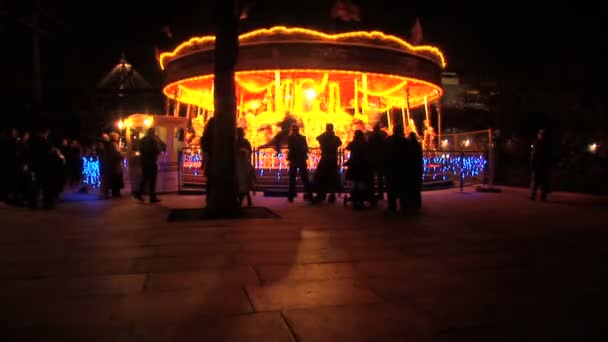
{"label": "silhouetted person standing legs apart in front of the carousel", "polygon": [[291,127],[291,135],[287,139],[287,160],[289,160],[289,190],[287,200],[293,202],[297,196],[296,193],[296,176],[300,172],[300,179],[304,184],[304,199],[312,199],[312,191],[310,181],[308,179],[308,143],[306,137],[300,134],[300,128],[297,125]]}

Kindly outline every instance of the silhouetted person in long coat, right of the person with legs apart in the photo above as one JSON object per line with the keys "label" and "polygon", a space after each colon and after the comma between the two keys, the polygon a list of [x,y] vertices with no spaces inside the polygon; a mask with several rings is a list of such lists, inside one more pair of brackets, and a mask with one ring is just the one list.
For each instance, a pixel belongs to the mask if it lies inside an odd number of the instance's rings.
{"label": "silhouetted person in long coat, right of the person with legs apart", "polygon": [[339,185],[338,175],[338,148],[342,145],[342,140],[336,136],[334,125],[327,124],[325,133],[317,137],[321,148],[321,160],[315,173],[315,186],[317,197],[315,202],[325,200],[329,193],[329,201],[335,202]]}

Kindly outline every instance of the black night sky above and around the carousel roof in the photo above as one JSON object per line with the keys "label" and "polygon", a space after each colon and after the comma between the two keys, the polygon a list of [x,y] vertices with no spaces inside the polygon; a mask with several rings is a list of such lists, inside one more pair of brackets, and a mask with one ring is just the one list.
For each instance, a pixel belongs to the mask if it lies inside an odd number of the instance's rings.
{"label": "black night sky above and around the carousel roof", "polygon": [[[70,2],[73,4],[73,2]],[[67,1],[43,1],[42,70],[44,102],[61,110],[79,110],[86,95],[118,61],[121,52],[155,85],[162,75],[154,47],[172,47],[193,35],[213,32],[209,1],[91,1],[74,7]],[[192,4],[194,3],[194,4]],[[407,37],[419,17],[425,42],[442,48],[448,70],[499,79],[525,89],[576,93],[587,102],[603,101],[606,55],[600,8],[580,10],[546,2],[355,1],[362,22],[357,29],[379,29]],[[144,5],[145,4],[145,5]],[[330,0],[305,2],[258,0],[243,31],[273,25],[332,29]],[[560,7],[563,6],[563,7]],[[599,6],[599,5],[595,5]],[[19,108],[31,97],[31,36],[20,18],[31,4],[9,2],[2,8],[3,94]],[[170,25],[174,38],[163,39]],[[342,26],[343,27],[343,26]],[[10,43],[12,42],[12,43]],[[578,48],[576,46],[579,46]],[[69,105],[68,105],[69,104]]]}

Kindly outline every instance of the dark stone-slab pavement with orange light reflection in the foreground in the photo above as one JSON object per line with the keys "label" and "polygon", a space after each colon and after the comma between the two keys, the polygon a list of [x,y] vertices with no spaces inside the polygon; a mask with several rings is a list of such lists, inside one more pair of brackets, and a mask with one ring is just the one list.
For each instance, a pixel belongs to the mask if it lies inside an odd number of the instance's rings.
{"label": "dark stone-slab pavement with orange light reflection in the foreground", "polygon": [[0,207],[0,341],[606,340],[608,199],[465,190],[415,217],[259,195],[280,219],[167,223],[202,203],[177,195]]}

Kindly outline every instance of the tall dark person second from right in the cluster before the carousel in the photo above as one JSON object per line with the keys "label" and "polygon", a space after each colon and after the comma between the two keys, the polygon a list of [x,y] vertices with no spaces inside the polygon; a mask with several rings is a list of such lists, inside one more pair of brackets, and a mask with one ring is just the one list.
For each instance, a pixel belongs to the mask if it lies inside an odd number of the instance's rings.
{"label": "tall dark person second from right in the cluster before the carousel", "polygon": [[403,125],[397,124],[393,127],[393,135],[386,139],[385,170],[389,211],[397,210],[397,198],[401,210],[407,206],[407,177],[410,167],[407,157],[410,153],[410,142],[404,134]]}

